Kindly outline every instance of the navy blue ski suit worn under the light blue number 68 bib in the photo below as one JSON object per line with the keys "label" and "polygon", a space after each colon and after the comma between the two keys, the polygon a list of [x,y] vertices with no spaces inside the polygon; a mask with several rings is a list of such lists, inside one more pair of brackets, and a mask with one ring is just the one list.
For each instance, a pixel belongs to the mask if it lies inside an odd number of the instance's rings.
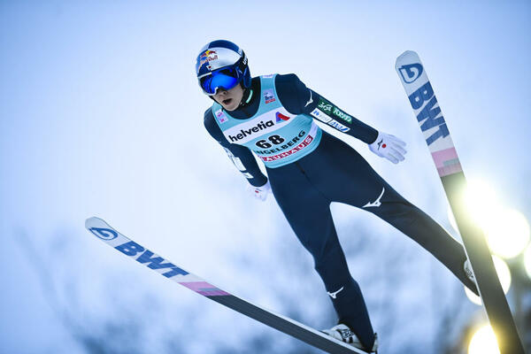
{"label": "navy blue ski suit worn under the light blue number 68 bib", "polygon": [[[289,113],[310,114],[319,104],[319,94],[306,88],[295,74],[277,75],[275,89]],[[230,113],[236,119],[249,119],[258,110],[260,80],[253,78],[251,100]],[[322,97],[324,99],[324,97]],[[351,116],[350,116],[351,117]],[[352,117],[341,120],[342,131],[372,143],[378,132]],[[212,108],[204,113],[204,126],[229,153],[244,166],[241,172],[253,186],[262,186],[267,177],[260,172],[250,150],[228,142],[216,123]],[[336,127],[337,128],[337,127]],[[460,281],[477,293],[466,277],[463,263],[466,254],[433,219],[400,196],[374,172],[358,152],[345,142],[323,131],[319,146],[310,154],[288,165],[266,168],[273,195],[299,241],[312,253],[315,269],[331,295],[339,322],[358,335],[366,348],[374,342],[373,327],[358,282],[352,279],[342,247],[338,241],[330,203],[340,202],[373,212],[408,235],[447,266]]]}

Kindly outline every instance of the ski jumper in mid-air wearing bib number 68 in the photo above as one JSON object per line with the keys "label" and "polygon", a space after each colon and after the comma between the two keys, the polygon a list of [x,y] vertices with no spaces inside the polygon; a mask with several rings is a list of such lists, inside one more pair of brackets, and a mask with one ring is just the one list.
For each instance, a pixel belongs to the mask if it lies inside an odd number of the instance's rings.
{"label": "ski jumper in mid-air wearing bib number 68", "polygon": [[[214,101],[204,112],[204,126],[255,196],[265,200],[273,192],[299,241],[312,253],[338,316],[337,325],[323,332],[362,350],[378,348],[364,298],[335,232],[332,202],[384,219],[477,294],[463,246],[315,119],[366,142],[373,153],[395,164],[404,160],[404,142],[342,111],[293,73],[251,78],[247,57],[233,42],[207,43],[196,58],[196,75],[204,94]],[[251,151],[266,165],[267,177]]]}

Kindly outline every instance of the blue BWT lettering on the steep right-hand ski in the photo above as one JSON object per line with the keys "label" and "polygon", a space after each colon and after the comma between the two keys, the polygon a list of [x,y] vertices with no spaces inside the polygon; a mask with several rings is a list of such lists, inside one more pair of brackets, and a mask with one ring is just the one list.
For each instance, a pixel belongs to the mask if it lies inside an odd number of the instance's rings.
{"label": "blue BWT lettering on the steep right-hand ski", "polygon": [[437,97],[434,95],[434,89],[432,89],[429,81],[413,92],[409,96],[409,100],[415,113],[427,102],[424,108],[417,114],[417,120],[421,123],[420,130],[423,132],[434,127],[437,128],[432,135],[427,137],[426,142],[428,146],[435,142],[435,140],[450,135],[448,127],[446,127],[446,121],[444,120],[443,114],[441,114],[441,108],[437,103]]}

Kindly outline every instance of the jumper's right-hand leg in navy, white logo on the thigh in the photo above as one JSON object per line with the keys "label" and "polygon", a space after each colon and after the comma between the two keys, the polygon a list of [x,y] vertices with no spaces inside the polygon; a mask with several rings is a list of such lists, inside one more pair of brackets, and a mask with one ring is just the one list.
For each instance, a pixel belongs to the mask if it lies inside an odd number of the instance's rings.
{"label": "jumper's right-hand leg in navy, white logo on the thigh", "polygon": [[358,151],[335,137],[323,135],[319,155],[315,154],[315,158],[319,161],[312,161],[312,165],[319,165],[319,170],[312,171],[311,175],[327,172],[319,179],[325,183],[318,187],[330,199],[373,212],[384,219],[418,242],[468,289],[478,294],[463,268],[466,260],[464,247],[434,219],[400,196]]}

